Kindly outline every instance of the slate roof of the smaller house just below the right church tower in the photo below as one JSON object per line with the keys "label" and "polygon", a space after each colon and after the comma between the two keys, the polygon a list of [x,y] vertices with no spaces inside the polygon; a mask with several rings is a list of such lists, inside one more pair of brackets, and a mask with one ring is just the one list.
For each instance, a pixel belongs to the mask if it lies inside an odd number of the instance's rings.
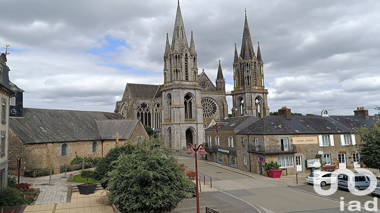
{"label": "slate roof of the smaller house just below the right church tower", "polygon": [[[233,118],[227,118],[221,122],[218,123],[226,123],[224,126],[220,127],[218,130],[235,130],[235,132],[238,132],[244,128],[246,128],[248,125],[257,122],[259,119],[254,116],[241,116],[241,117],[233,117]],[[215,125],[207,128],[206,130],[215,130]]]}

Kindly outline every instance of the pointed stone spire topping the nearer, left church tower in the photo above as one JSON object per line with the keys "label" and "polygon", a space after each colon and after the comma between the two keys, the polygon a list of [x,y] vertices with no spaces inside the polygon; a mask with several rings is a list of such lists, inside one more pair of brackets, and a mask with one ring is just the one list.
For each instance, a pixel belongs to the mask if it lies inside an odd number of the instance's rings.
{"label": "pointed stone spire topping the nearer, left church tower", "polygon": [[188,48],[185,27],[183,25],[181,8],[179,7],[179,1],[177,6],[177,14],[175,16],[174,30],[173,30],[173,40],[172,49],[173,52],[179,53],[184,48]]}

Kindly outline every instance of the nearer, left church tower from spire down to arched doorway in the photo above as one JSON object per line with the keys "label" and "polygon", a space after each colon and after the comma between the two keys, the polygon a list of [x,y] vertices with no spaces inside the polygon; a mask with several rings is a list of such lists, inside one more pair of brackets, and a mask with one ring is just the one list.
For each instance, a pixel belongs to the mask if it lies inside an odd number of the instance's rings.
{"label": "nearer, left church tower from spire down to arched doorway", "polygon": [[182,149],[203,141],[201,90],[193,32],[188,46],[178,1],[172,43],[167,34],[164,53],[161,120],[165,144]]}

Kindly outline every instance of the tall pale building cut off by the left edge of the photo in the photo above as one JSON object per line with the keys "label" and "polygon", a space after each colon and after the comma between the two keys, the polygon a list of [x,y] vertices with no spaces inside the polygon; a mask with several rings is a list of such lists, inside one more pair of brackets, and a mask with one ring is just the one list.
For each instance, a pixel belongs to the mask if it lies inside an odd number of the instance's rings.
{"label": "tall pale building cut off by the left edge of the photo", "polygon": [[9,136],[9,102],[14,95],[9,81],[9,67],[7,62],[7,52],[0,54],[0,98],[1,98],[1,123],[0,123],[0,188],[8,185],[8,136]]}

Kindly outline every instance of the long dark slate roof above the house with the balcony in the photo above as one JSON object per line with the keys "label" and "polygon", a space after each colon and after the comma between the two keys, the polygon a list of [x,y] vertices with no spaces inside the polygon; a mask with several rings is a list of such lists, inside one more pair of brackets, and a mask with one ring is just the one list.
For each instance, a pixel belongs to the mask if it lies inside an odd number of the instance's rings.
{"label": "long dark slate roof above the house with the balcony", "polygon": [[328,134],[352,133],[353,127],[370,126],[373,116],[364,119],[361,116],[292,116],[287,120],[283,116],[267,116],[251,123],[238,134]]}

